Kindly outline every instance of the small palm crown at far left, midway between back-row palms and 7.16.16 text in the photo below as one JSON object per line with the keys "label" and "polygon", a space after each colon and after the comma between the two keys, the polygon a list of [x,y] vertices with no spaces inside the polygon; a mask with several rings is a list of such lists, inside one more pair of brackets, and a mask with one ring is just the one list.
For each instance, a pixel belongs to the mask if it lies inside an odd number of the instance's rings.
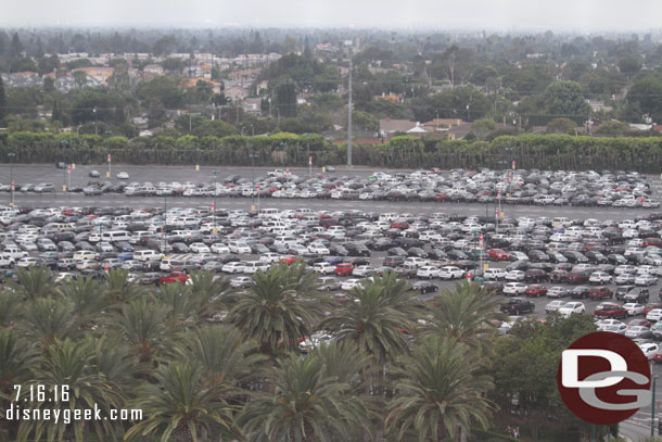
{"label": "small palm crown at far left, midway between back-row palms and 7.16.16 text", "polygon": [[24,336],[48,349],[56,340],[73,338],[78,332],[71,301],[65,299],[37,298],[26,306],[18,325]]}

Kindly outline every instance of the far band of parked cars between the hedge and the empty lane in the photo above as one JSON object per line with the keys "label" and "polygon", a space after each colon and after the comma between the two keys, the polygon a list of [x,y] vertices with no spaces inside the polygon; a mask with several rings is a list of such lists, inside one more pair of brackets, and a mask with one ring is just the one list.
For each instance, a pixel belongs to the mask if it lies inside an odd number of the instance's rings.
{"label": "far band of parked cars between the hedge and the empty lane", "polygon": [[[100,178],[98,171],[91,178]],[[377,172],[370,176],[335,176],[319,173],[297,176],[277,169],[255,178],[229,175],[217,180],[209,176],[203,182],[126,182],[126,172],[116,175],[118,180],[90,181],[87,186],[73,186],[72,192],[98,195],[105,192],[129,197],[257,197],[339,200],[391,200],[479,202],[500,201],[504,204],[583,205],[614,207],[659,207],[650,197],[651,189],[645,177],[633,172],[595,171],[491,171],[454,169],[444,172],[435,167],[411,173]],[[36,190],[35,185],[20,185],[23,191],[53,191],[51,185]],[[9,190],[9,186],[0,187]]]}

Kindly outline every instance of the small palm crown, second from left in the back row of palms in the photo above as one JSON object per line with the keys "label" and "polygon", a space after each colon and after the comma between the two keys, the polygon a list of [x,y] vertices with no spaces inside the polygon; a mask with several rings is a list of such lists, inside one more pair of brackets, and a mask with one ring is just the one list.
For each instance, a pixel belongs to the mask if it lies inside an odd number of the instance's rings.
{"label": "small palm crown, second from left in the back row of palms", "polygon": [[109,303],[101,282],[91,276],[68,278],[56,290],[72,302],[74,314],[81,320],[93,320]]}

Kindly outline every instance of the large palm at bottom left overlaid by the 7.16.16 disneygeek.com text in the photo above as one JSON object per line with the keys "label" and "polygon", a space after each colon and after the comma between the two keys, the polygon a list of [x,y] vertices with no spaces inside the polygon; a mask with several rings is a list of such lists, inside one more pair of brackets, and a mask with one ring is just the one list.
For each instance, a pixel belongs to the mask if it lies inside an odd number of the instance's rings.
{"label": "large palm at bottom left overlaid by the 7.16.16 disneygeek.com text", "polygon": [[[92,346],[88,343],[74,342],[69,339],[56,341],[48,351],[42,366],[35,371],[30,379],[31,384],[47,386],[47,396],[54,397],[53,388],[59,389],[58,401],[42,401],[29,403],[31,408],[68,409],[73,415],[76,408],[93,409],[99,407],[102,416],[110,416],[111,408],[119,408],[124,401],[119,394],[118,386],[107,381],[100,375],[93,365]],[[67,387],[68,401],[64,400],[62,386]],[[61,419],[53,420],[23,420],[18,427],[17,440],[40,440],[44,434],[49,440],[58,439],[65,442],[90,440],[88,432],[90,426],[97,438],[103,440],[107,434],[117,431],[115,421],[101,420],[73,420],[66,424]]]}

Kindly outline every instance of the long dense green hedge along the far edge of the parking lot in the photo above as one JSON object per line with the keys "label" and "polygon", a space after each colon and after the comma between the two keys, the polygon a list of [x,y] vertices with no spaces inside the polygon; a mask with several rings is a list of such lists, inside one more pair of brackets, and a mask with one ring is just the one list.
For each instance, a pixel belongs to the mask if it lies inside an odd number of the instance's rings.
{"label": "long dense green hedge along the far edge of the parking lot", "polygon": [[[380,144],[354,144],[353,164],[374,167],[478,167],[540,169],[627,169],[660,173],[662,137],[591,138],[521,135],[493,141],[395,137]],[[9,153],[14,153],[10,157]],[[183,136],[133,138],[13,132],[0,135],[0,162],[100,164],[107,154],[123,164],[307,166],[346,163],[346,144],[319,135],[269,137]]]}

